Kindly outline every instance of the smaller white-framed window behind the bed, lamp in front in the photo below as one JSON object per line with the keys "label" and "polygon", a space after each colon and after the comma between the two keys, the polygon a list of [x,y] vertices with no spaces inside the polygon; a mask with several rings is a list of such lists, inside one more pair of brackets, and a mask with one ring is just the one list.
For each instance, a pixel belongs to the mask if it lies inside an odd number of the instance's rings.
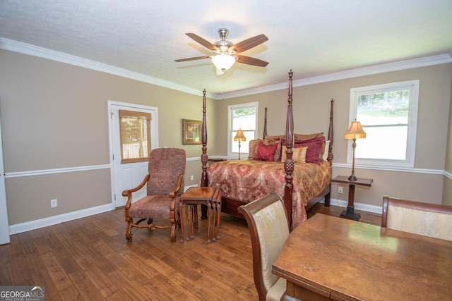
{"label": "smaller white-framed window behind the bed, lamp in front", "polygon": [[237,130],[242,129],[246,137],[246,142],[240,143],[240,153],[249,153],[249,140],[257,138],[258,103],[236,104],[227,106],[227,155],[235,156],[239,154],[239,142],[234,141]]}

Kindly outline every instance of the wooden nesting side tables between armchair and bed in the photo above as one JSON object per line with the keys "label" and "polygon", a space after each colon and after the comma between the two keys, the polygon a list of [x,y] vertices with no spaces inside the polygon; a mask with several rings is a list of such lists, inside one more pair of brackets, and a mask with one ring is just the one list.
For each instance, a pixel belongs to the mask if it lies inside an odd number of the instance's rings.
{"label": "wooden nesting side tables between armchair and bed", "polygon": [[194,227],[198,224],[197,205],[207,207],[207,242],[220,239],[221,192],[218,187],[191,187],[179,197],[179,219],[181,221],[181,242],[194,239]]}

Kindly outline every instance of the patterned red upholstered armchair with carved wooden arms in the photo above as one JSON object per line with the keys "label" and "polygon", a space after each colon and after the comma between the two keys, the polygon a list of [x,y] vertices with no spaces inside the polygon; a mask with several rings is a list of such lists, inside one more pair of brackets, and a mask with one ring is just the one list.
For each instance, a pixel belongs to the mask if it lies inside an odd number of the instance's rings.
{"label": "patterned red upholstered armchair with carved wooden arms", "polygon": [[[132,240],[131,229],[171,228],[169,239],[176,241],[176,226],[179,223],[179,196],[184,192],[186,154],[184,149],[153,149],[149,154],[148,175],[136,188],[124,190],[127,197],[124,216],[126,217],[126,239]],[[132,202],[132,194],[147,186],[147,195]],[[138,219],[134,222],[133,219]],[[148,225],[140,225],[148,219]],[[169,225],[158,226],[154,220],[167,221]]]}

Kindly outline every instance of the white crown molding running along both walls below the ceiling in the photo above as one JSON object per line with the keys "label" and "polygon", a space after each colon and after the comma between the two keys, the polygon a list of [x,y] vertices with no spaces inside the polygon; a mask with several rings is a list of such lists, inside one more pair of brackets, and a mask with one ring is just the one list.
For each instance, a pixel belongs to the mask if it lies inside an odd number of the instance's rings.
{"label": "white crown molding running along both walls below the ceiling", "polygon": [[[0,37],[0,49],[18,52],[20,54],[28,54],[30,56],[37,56],[42,59],[49,59],[52,61],[59,61],[61,63],[68,63],[73,66],[88,68],[91,70],[96,70],[104,73],[109,73],[112,75],[118,75],[123,78],[130,78],[132,80],[138,80],[141,82],[148,82],[152,85],[157,85],[160,87],[166,87],[168,89],[177,90],[181,92],[186,92],[189,94],[195,94],[198,96],[203,96],[203,91],[192,89],[183,85],[177,85],[173,82],[168,82],[166,80],[160,80],[158,78],[153,78],[148,75],[143,75],[141,73],[132,72],[126,69],[117,68],[114,66],[107,65],[105,63],[99,63],[96,61],[91,61],[88,59],[82,59],[78,56],[73,56],[71,54],[64,54],[59,51],[53,51],[50,49],[37,47],[30,44],[25,44],[22,42],[13,41],[12,39],[5,39]],[[437,56],[428,56],[420,59],[412,59],[407,61],[399,61],[395,63],[385,63],[376,66],[369,66],[364,68],[357,68],[354,70],[347,70],[338,73],[331,73],[326,75],[314,76],[311,78],[304,78],[302,80],[292,81],[292,87],[302,87],[306,85],[319,84],[321,82],[331,82],[334,80],[344,80],[347,78],[357,78],[364,75],[374,75],[379,73],[386,73],[398,70],[405,70],[411,68],[420,68],[426,66],[440,65],[443,63],[452,63],[451,54],[439,54]],[[227,92],[223,94],[206,93],[206,97],[211,99],[221,100],[233,97],[242,97],[246,95],[259,94],[272,92],[277,90],[287,89],[287,82],[281,82],[275,85],[267,85],[262,87],[253,87],[251,89]]]}

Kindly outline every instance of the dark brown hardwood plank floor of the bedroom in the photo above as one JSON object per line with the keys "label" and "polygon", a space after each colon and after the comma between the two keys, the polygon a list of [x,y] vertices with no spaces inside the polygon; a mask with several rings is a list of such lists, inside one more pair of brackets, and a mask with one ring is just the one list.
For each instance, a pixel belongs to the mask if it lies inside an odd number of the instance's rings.
{"label": "dark brown hardwood plank floor of the bedroom", "polygon": [[[316,204],[309,217],[341,211]],[[359,213],[381,223],[379,214]],[[126,242],[117,209],[11,235],[0,246],[0,285],[42,285],[48,301],[258,300],[246,222],[222,214],[221,239],[210,244],[206,228],[201,220],[184,243],[169,242],[169,230],[135,228]]]}

